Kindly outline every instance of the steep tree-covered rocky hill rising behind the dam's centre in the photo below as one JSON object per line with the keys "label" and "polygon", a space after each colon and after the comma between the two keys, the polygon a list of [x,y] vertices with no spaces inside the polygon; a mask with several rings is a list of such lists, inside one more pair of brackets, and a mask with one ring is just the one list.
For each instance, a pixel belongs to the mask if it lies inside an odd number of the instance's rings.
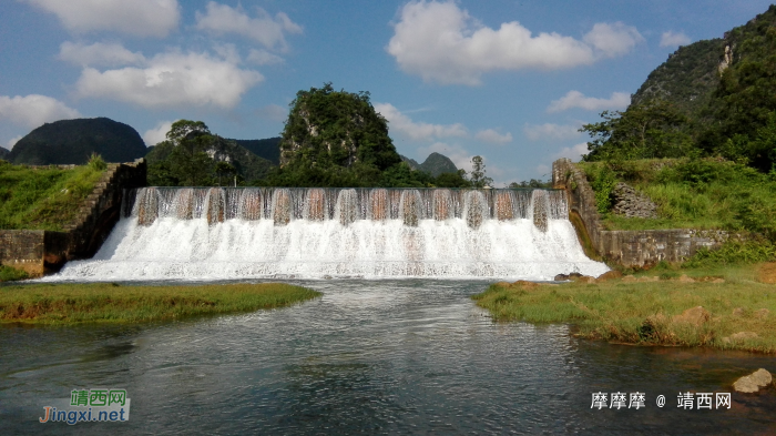
{"label": "steep tree-covered rocky hill rising behind the dam's centre", "polygon": [[368,92],[335,91],[331,83],[299,91],[280,141],[280,168],[261,182],[275,186],[459,186],[455,173],[435,179],[411,171],[388,136],[388,123]]}

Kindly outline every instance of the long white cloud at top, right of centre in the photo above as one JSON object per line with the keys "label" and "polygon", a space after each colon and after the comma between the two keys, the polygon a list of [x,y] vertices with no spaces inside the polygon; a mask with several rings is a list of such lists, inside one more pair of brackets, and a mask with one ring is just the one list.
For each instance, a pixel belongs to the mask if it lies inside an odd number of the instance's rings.
{"label": "long white cloud at top, right of centre", "polygon": [[576,40],[559,33],[533,36],[519,22],[497,29],[479,24],[452,1],[412,1],[401,10],[386,48],[401,70],[425,81],[474,85],[494,70],[557,70],[627,52],[643,40],[635,28],[599,23]]}

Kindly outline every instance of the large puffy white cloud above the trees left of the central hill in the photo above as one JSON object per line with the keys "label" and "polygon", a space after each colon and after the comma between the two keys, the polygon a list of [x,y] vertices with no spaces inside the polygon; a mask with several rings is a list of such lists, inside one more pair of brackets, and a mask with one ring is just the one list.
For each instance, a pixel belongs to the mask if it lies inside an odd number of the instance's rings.
{"label": "large puffy white cloud above the trees left of the central hill", "polygon": [[264,78],[242,70],[239,59],[171,51],[145,60],[143,68],[99,71],[84,68],[75,83],[78,97],[102,98],[144,108],[234,108]]}

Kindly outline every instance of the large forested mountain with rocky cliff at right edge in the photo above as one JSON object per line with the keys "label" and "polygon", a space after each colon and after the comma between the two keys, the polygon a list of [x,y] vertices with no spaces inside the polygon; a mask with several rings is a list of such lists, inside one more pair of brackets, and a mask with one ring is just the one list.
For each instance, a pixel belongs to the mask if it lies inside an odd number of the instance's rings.
{"label": "large forested mountain with rocky cliff at right edge", "polygon": [[588,161],[722,156],[768,172],[776,163],[776,6],[723,39],[683,47],[623,112],[585,124]]}

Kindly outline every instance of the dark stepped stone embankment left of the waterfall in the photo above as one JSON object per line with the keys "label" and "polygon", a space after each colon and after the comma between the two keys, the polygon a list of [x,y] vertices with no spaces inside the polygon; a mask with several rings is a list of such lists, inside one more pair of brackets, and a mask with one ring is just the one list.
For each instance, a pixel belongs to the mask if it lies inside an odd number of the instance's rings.
{"label": "dark stepped stone embankment left of the waterfall", "polygon": [[119,221],[124,190],[144,186],[145,175],[144,159],[109,164],[64,232],[0,230],[0,264],[38,277],[68,261],[91,257]]}

